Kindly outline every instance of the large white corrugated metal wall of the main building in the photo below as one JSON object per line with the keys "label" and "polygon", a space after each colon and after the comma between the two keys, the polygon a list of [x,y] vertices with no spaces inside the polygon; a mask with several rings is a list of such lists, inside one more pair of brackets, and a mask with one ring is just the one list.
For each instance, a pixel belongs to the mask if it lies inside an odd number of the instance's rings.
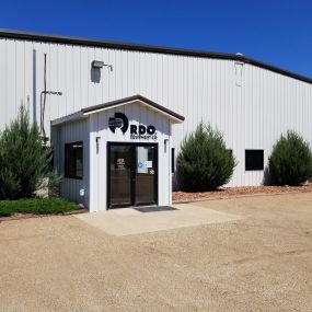
{"label": "large white corrugated metal wall of the main building", "polygon": [[[39,120],[45,53],[47,89],[63,92],[47,95],[47,129],[50,119],[82,107],[141,94],[186,117],[173,127],[176,148],[200,120],[224,134],[239,161],[231,185],[263,181],[263,172],[244,171],[245,149],[264,149],[267,160],[287,129],[312,143],[312,85],[307,82],[232,60],[13,39],[0,39],[0,128],[21,103]],[[99,79],[91,70],[94,59],[113,71],[103,68]]]}

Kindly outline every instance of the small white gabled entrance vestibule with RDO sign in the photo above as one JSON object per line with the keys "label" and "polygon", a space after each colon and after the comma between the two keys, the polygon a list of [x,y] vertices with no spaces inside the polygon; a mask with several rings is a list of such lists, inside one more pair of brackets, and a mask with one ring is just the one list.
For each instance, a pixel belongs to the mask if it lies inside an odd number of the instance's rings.
{"label": "small white gabled entrance vestibule with RDO sign", "polygon": [[63,197],[90,211],[171,204],[172,125],[184,117],[141,95],[51,123]]}

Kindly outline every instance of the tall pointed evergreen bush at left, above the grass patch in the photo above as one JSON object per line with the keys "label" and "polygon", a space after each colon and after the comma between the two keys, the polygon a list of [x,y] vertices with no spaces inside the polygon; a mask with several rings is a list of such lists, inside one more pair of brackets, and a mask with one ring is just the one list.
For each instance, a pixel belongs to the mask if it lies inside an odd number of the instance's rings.
{"label": "tall pointed evergreen bush at left, above the grass patch", "polygon": [[21,106],[16,120],[0,136],[0,197],[31,197],[48,172],[50,148],[42,146],[41,131],[30,124],[26,109]]}

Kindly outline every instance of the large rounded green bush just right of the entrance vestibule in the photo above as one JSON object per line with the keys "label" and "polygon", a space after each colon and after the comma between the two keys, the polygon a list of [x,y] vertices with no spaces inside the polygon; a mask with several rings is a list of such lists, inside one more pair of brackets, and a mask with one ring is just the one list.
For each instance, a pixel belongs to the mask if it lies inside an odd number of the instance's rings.
{"label": "large rounded green bush just right of the entrance vestibule", "polygon": [[188,192],[216,189],[230,181],[235,165],[222,134],[200,123],[184,139],[176,160],[180,186]]}

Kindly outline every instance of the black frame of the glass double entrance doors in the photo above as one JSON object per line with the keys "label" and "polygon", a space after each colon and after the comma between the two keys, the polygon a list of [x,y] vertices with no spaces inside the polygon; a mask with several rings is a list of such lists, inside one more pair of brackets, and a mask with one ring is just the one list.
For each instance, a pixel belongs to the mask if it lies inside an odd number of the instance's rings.
{"label": "black frame of the glass double entrance doors", "polygon": [[[132,170],[131,170],[131,177],[130,177],[130,184],[131,184],[131,204],[129,205],[111,205],[111,147],[112,146],[129,146],[131,148],[131,162],[132,162]],[[155,173],[154,173],[154,203],[140,203],[136,204],[136,178],[135,178],[135,173],[136,173],[136,163],[137,163],[137,153],[136,153],[136,147],[154,147],[155,148]],[[115,208],[126,208],[126,207],[136,207],[136,206],[148,206],[148,205],[158,205],[159,200],[159,148],[158,143],[149,143],[149,142],[115,142],[115,141],[109,141],[107,142],[107,148],[106,148],[106,171],[107,171],[107,183],[106,183],[106,192],[107,192],[107,209],[115,209]]]}

